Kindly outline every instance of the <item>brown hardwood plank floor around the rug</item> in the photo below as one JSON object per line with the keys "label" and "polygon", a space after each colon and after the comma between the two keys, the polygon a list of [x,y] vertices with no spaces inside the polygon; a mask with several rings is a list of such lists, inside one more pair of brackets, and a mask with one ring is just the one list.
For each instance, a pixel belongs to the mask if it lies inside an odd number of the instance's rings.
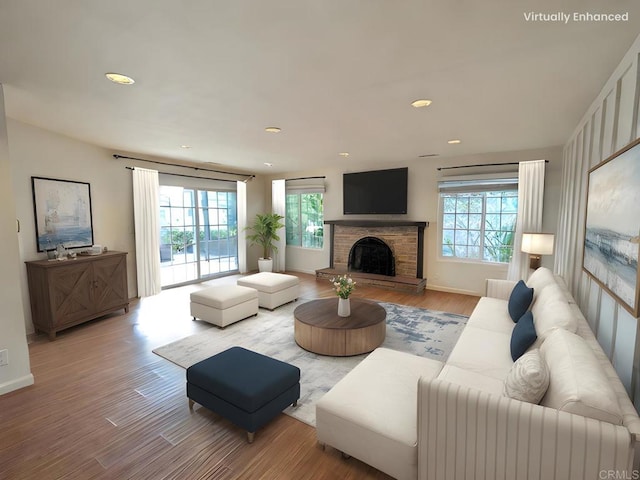
{"label": "brown hardwood plank floor around the rug", "polygon": [[[301,278],[301,297],[333,295]],[[206,285],[235,283],[237,276]],[[317,444],[315,429],[280,415],[256,432],[188,409],[185,371],[151,350],[212,327],[189,316],[190,285],[29,345],[35,385],[0,396],[0,479],[382,479]],[[354,296],[469,315],[478,298],[358,286]]]}

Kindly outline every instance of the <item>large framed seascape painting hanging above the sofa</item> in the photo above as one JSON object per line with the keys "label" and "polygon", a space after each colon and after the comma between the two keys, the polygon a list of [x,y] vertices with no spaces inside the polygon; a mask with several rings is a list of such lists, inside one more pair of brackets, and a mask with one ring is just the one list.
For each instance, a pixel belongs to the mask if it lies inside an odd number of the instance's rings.
{"label": "large framed seascape painting hanging above the sofa", "polygon": [[640,139],[589,170],[583,269],[639,315]]}

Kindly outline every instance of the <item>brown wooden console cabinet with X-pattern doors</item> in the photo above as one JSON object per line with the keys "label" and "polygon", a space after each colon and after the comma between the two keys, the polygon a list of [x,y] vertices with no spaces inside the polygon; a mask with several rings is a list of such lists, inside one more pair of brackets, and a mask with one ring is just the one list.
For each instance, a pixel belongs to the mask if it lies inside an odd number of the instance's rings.
{"label": "brown wooden console cabinet with X-pattern doors", "polygon": [[121,308],[129,311],[126,252],[26,262],[36,332],[56,332]]}

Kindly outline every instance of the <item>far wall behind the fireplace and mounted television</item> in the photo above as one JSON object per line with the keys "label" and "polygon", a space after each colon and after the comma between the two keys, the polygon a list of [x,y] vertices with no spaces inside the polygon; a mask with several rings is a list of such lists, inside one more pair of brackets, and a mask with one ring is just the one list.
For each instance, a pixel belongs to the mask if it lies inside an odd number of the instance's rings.
{"label": "far wall behind the fireplace and mounted television", "polygon": [[[409,167],[409,198],[406,215],[378,215],[376,219],[427,221],[429,227],[425,232],[425,259],[423,265],[424,276],[427,278],[427,288],[444,290],[472,295],[482,295],[486,278],[506,278],[506,265],[489,265],[486,263],[460,262],[441,258],[438,254],[438,179],[441,174],[438,167],[454,165],[474,165],[484,163],[520,162],[525,160],[549,160],[545,175],[545,208],[543,216],[543,231],[555,233],[558,204],[560,198],[560,181],[562,170],[562,148],[551,147],[518,152],[500,152],[463,157],[432,158],[429,160],[415,160],[404,163],[389,163],[376,165],[375,169]],[[373,167],[372,167],[373,168]],[[499,170],[515,170],[518,166],[501,167]],[[270,195],[270,184],[273,178],[297,178],[324,175],[324,218],[325,220],[358,219],[372,216],[342,214],[342,174],[359,169],[331,169],[289,173],[284,176],[272,176],[265,180],[265,193]],[[490,168],[464,168],[447,171],[451,175],[481,173],[495,171]],[[313,273],[316,269],[329,266],[329,229],[325,229],[325,248],[323,250],[287,247],[287,270]],[[543,257],[543,265],[551,267],[553,257]]]}

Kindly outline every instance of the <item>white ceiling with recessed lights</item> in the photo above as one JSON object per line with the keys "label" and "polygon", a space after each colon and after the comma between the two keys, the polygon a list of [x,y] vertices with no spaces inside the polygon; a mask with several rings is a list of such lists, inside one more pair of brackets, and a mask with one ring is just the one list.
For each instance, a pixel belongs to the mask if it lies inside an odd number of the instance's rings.
{"label": "white ceiling with recessed lights", "polygon": [[[629,21],[525,20],[559,11]],[[639,32],[637,0],[0,0],[0,83],[114,152],[357,170],[563,145]]]}

